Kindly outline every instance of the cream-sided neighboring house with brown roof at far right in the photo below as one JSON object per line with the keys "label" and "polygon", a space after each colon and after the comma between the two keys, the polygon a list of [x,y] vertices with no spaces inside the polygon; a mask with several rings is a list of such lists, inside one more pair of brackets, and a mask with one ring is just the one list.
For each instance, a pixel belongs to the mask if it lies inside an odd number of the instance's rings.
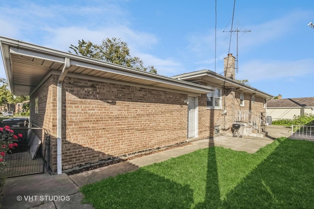
{"label": "cream-sided neighboring house with brown roof at far right", "polygon": [[279,94],[278,99],[267,100],[267,116],[272,120],[293,119],[304,114],[314,114],[314,97],[283,99]]}

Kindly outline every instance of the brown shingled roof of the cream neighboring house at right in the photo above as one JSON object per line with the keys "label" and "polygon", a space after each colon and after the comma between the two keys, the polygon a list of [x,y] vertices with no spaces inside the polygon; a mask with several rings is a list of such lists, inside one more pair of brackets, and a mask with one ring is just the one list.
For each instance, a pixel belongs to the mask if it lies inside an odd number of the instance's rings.
{"label": "brown shingled roof of the cream neighboring house at right", "polygon": [[314,97],[270,99],[266,103],[267,108],[314,107]]}

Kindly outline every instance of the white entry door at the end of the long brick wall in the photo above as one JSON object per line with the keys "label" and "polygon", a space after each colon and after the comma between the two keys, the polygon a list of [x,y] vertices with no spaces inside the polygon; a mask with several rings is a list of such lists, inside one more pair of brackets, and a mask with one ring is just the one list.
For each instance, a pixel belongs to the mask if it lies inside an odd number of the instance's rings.
{"label": "white entry door at the end of the long brick wall", "polygon": [[188,138],[197,137],[198,113],[197,113],[197,97],[188,97]]}

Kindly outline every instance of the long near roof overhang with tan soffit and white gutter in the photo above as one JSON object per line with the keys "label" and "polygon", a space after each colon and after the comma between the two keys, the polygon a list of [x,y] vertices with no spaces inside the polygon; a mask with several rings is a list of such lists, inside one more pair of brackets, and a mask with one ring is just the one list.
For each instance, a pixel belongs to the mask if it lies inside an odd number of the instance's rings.
{"label": "long near roof overhang with tan soffit and white gutter", "polygon": [[198,84],[106,63],[76,54],[0,37],[2,58],[10,90],[29,95],[52,70],[62,71],[65,57],[70,58],[68,72],[106,78],[186,93],[213,90]]}

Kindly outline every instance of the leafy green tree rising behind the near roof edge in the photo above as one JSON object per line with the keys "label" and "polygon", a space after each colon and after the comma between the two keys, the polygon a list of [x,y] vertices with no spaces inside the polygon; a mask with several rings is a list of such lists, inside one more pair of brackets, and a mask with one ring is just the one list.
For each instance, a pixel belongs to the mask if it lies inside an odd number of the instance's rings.
{"label": "leafy green tree rising behind the near roof edge", "polygon": [[[93,44],[91,41],[78,40],[78,46],[71,44],[70,49],[76,54],[90,57],[105,62],[122,65],[137,70],[157,73],[154,66],[145,67],[139,57],[132,57],[126,42],[117,38],[106,38],[101,45]],[[72,51],[69,50],[72,53]]]}

